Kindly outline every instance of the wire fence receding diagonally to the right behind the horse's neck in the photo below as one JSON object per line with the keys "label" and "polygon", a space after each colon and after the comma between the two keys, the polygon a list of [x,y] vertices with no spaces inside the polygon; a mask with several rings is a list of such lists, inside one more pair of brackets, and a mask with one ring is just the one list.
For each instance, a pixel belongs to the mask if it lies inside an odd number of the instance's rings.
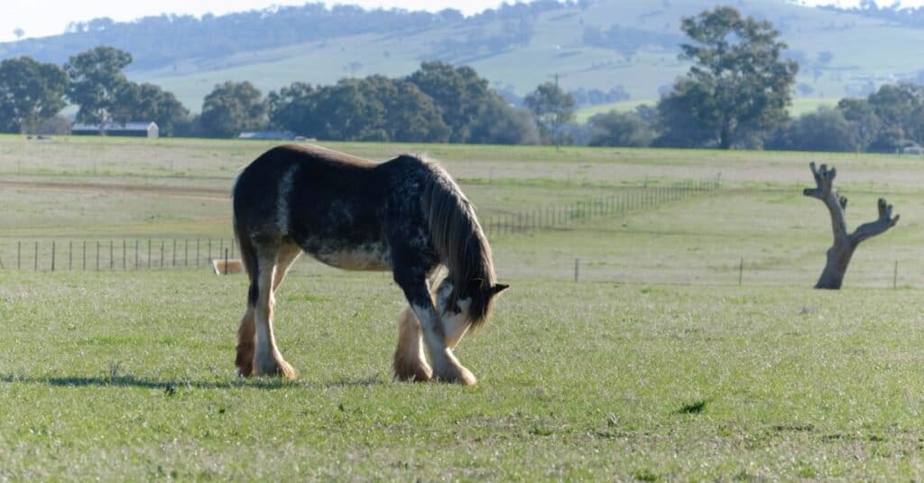
{"label": "wire fence receding diagonally to the right behind the horse's neck", "polygon": [[495,215],[481,220],[488,236],[553,229],[595,217],[614,217],[659,204],[673,203],[721,188],[720,176],[706,180],[684,180],[670,185],[642,185],[610,196],[571,204],[545,206]]}

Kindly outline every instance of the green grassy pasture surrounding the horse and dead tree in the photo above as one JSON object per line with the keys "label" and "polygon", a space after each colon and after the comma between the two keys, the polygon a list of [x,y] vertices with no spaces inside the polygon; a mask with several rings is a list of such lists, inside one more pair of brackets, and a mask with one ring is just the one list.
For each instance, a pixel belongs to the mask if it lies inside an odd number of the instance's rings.
{"label": "green grassy pasture surrounding the horse and dead tree", "polygon": [[[492,236],[512,288],[456,352],[474,388],[390,380],[404,303],[385,274],[298,262],[276,334],[300,377],[281,382],[235,376],[240,276],[9,269],[16,241],[226,238],[225,193],[269,145],[0,138],[0,479],[924,474],[917,157],[331,144],[429,153],[482,217],[721,173]],[[838,167],[851,228],[879,196],[902,216],[843,291],[810,289],[831,241],[810,160]]]}

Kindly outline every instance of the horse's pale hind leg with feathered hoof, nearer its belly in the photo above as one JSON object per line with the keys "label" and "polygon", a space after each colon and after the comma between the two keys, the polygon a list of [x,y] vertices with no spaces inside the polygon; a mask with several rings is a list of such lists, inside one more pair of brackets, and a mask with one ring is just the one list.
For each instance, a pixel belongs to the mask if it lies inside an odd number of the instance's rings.
{"label": "horse's pale hind leg with feathered hoof, nearer its belly", "polygon": [[275,278],[278,276],[281,280],[287,268],[279,266],[280,254],[284,252],[281,248],[278,241],[257,247],[256,303],[253,309],[256,347],[252,374],[293,379],[296,378],[296,371],[286,363],[282,353],[279,353],[273,334],[274,289],[277,285]]}

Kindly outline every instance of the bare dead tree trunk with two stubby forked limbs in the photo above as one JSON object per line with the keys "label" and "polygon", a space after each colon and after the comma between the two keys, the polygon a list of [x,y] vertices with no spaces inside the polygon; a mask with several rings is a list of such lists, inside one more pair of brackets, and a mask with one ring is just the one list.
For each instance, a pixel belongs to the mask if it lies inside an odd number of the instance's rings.
{"label": "bare dead tree trunk with two stubby forked limbs", "polygon": [[816,187],[806,188],[802,194],[817,198],[828,207],[828,211],[831,212],[831,229],[834,234],[834,244],[828,249],[828,262],[815,288],[838,290],[844,282],[847,265],[850,264],[850,257],[853,256],[857,245],[894,227],[898,222],[898,215],[892,217],[892,204],[887,204],[885,199],[880,198],[879,218],[860,225],[853,233],[847,233],[844,219],[847,199],[838,195],[833,186],[837,169],[834,167],[828,169],[825,165],[816,169],[815,163],[809,163],[808,167],[811,168],[811,174],[815,177]]}

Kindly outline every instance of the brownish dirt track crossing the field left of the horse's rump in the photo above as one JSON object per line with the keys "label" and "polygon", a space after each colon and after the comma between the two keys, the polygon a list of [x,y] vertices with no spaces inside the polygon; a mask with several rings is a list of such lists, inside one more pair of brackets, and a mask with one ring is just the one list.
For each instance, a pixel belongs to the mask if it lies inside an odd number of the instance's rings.
{"label": "brownish dirt track crossing the field left of the horse's rump", "polygon": [[162,198],[179,198],[227,202],[231,200],[228,190],[215,188],[194,188],[178,186],[139,186],[134,184],[68,183],[63,181],[8,181],[0,180],[0,188],[14,188],[35,192],[125,192],[140,193]]}

